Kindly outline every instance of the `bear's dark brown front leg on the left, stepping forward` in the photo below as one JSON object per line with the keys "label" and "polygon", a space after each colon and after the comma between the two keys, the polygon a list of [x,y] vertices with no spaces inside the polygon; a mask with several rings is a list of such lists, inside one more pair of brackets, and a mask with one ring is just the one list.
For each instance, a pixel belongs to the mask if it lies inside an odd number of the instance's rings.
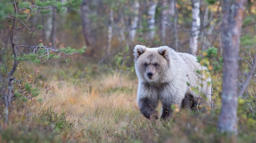
{"label": "bear's dark brown front leg on the left, stepping forward", "polygon": [[159,119],[158,118],[158,113],[155,110],[157,106],[157,101],[154,101],[150,98],[144,97],[140,98],[138,100],[139,108],[141,113],[148,118],[149,120],[151,119]]}

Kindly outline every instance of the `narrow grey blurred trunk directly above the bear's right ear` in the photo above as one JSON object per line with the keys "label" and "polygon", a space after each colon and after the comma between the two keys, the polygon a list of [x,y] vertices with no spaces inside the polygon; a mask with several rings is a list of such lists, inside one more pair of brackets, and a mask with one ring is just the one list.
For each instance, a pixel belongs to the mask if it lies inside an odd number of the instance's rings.
{"label": "narrow grey blurred trunk directly above the bear's right ear", "polygon": [[161,16],[162,16],[162,21],[161,21],[161,40],[162,40],[162,44],[165,45],[166,42],[166,23],[167,23],[167,14],[168,14],[168,9],[167,9],[167,0],[162,0],[162,12],[161,12]]}

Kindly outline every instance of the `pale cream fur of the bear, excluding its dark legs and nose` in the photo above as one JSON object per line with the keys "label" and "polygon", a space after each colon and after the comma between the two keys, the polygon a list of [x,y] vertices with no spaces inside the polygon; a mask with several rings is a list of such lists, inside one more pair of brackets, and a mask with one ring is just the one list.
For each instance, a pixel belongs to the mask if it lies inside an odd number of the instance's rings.
{"label": "pale cream fur of the bear, excluding its dark legs and nose", "polygon": [[[137,91],[137,102],[142,107],[140,99],[150,98],[156,104],[159,100],[162,104],[181,106],[186,93],[193,95],[196,99],[200,98],[191,90],[191,87],[198,87],[207,97],[207,105],[211,101],[210,78],[206,81],[198,79],[196,69],[206,69],[197,62],[196,57],[188,53],[178,53],[167,46],[157,48],[147,48],[146,46],[136,45],[134,48],[135,71],[139,78]],[[154,78],[149,79],[145,69],[145,64],[154,65]],[[202,75],[199,75],[200,77]],[[204,78],[204,75],[203,75]],[[190,86],[187,85],[187,82]],[[200,86],[203,84],[203,87]],[[155,107],[155,105],[154,105]]]}

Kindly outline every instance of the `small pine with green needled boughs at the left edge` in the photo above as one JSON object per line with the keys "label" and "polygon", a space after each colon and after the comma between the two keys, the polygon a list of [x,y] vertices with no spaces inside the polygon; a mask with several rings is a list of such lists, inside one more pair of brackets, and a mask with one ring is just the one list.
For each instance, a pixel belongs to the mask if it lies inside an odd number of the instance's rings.
{"label": "small pine with green needled boughs at the left edge", "polygon": [[[18,67],[21,61],[31,61],[34,63],[43,63],[49,59],[59,59],[62,55],[72,55],[72,54],[83,54],[85,52],[85,46],[79,49],[64,47],[59,44],[59,40],[55,40],[54,43],[49,43],[49,45],[44,45],[41,40],[39,40],[38,45],[30,45],[27,43],[19,43],[16,39],[17,32],[23,32],[24,30],[29,30],[31,36],[34,36],[34,31],[43,28],[43,25],[38,24],[35,27],[31,27],[28,19],[33,15],[46,14],[50,12],[61,13],[67,10],[67,8],[78,11],[80,10],[82,0],[67,0],[65,2],[60,2],[57,0],[2,0],[0,3],[0,23],[4,28],[11,31],[11,36],[9,37],[12,55],[7,58],[7,47],[1,48],[0,50],[0,77],[4,78],[5,81],[1,81],[1,86],[5,86],[7,89],[5,93],[0,93],[1,97],[5,98],[6,107],[11,106],[11,101],[15,98],[26,98],[31,99],[39,95],[39,91],[45,91],[52,89],[52,86],[42,85],[46,89],[38,88],[37,81],[41,80],[37,77],[37,71],[33,72],[29,76],[25,76],[16,80],[14,73],[17,69],[21,70],[21,73],[26,73],[25,70]],[[4,22],[2,22],[4,20]],[[2,26],[1,26],[2,27]],[[29,52],[24,52],[21,48],[28,48]],[[28,51],[28,50],[25,50]],[[70,59],[66,59],[69,62]],[[13,62],[12,64],[10,64]],[[9,66],[11,65],[11,67]],[[8,67],[8,68],[7,68]],[[10,69],[11,68],[11,69]],[[47,72],[46,72],[47,74]],[[35,77],[34,77],[35,76]],[[31,82],[32,81],[32,82]],[[5,82],[5,83],[4,83]]]}

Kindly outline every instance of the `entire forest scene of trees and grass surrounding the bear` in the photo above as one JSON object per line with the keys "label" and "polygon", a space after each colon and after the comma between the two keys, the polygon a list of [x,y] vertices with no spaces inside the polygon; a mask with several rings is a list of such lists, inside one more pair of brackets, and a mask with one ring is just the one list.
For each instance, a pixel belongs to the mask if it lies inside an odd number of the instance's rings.
{"label": "entire forest scene of trees and grass surrounding the bear", "polygon": [[[1,0],[0,142],[256,142],[255,14],[254,0]],[[145,118],[136,45],[195,55],[210,109]]]}

